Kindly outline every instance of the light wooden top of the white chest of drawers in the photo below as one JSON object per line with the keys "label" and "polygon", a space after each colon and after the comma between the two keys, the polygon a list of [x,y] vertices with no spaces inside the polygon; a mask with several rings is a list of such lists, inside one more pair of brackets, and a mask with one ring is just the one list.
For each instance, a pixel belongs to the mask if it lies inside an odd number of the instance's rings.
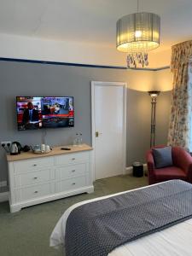
{"label": "light wooden top of the white chest of drawers", "polygon": [[[61,150],[61,148],[71,148],[71,150]],[[7,154],[7,160],[10,161],[17,161],[17,160],[27,160],[27,159],[33,159],[33,158],[41,158],[41,157],[48,157],[48,156],[54,156],[59,154],[71,154],[76,152],[83,152],[83,151],[89,151],[92,150],[89,145],[82,144],[81,146],[74,147],[72,145],[68,146],[59,146],[59,147],[53,147],[52,150],[47,154],[34,154],[32,151],[29,152],[22,152],[21,154],[16,155],[10,155]]]}

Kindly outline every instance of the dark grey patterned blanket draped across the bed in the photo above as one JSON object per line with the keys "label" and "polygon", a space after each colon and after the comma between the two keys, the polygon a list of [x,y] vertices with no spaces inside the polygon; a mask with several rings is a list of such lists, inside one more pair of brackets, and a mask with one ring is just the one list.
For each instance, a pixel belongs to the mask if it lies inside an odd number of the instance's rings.
{"label": "dark grey patterned blanket draped across the bed", "polygon": [[104,256],[128,241],[192,218],[192,185],[181,180],[77,207],[67,218],[67,256]]}

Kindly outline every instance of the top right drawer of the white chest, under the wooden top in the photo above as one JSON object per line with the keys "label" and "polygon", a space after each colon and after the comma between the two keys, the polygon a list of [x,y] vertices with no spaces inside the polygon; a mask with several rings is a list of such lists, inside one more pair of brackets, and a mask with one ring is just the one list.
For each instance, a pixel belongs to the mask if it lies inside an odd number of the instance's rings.
{"label": "top right drawer of the white chest, under the wooden top", "polygon": [[76,163],[84,163],[89,161],[89,152],[81,152],[75,154],[62,154],[55,156],[55,165],[70,165]]}

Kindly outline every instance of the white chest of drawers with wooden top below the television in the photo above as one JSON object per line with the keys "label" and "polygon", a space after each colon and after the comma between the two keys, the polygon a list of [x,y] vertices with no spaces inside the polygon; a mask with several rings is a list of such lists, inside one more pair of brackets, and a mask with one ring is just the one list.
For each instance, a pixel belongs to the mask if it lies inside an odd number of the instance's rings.
{"label": "white chest of drawers with wooden top below the television", "polygon": [[10,211],[93,192],[91,149],[84,144],[70,151],[56,147],[44,155],[8,155]]}

